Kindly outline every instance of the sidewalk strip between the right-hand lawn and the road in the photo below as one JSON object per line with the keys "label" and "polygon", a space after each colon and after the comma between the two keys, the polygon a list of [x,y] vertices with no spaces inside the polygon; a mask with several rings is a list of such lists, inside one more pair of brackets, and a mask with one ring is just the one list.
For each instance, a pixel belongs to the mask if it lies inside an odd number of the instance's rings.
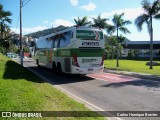
{"label": "sidewalk strip between the right-hand lawn and the road", "polygon": [[160,76],[158,76],[158,75],[128,72],[128,71],[119,71],[119,70],[110,70],[110,69],[104,69],[104,72],[113,73],[113,74],[120,74],[120,75],[127,75],[127,76],[137,77],[137,78],[141,78],[141,79],[147,79],[147,80],[160,81]]}

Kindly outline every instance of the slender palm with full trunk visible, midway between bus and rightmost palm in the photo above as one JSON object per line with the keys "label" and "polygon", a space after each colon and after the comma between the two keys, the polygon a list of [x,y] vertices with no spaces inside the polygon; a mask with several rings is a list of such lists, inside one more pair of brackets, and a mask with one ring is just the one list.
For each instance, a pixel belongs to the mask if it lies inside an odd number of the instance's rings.
{"label": "slender palm with full trunk visible, midway between bus and rightmost palm", "polygon": [[117,33],[117,43],[116,43],[116,51],[117,51],[117,64],[116,64],[116,67],[119,67],[119,47],[118,47],[118,41],[119,41],[119,37],[118,37],[118,34],[119,34],[119,31],[127,34],[127,33],[130,33],[130,31],[124,27],[125,25],[129,25],[131,24],[132,22],[129,21],[129,20],[123,20],[123,17],[124,16],[124,13],[118,15],[118,14],[115,14],[113,16],[113,19],[112,19],[112,22],[114,25],[108,25],[107,26],[107,32],[109,34],[112,34],[114,32]]}

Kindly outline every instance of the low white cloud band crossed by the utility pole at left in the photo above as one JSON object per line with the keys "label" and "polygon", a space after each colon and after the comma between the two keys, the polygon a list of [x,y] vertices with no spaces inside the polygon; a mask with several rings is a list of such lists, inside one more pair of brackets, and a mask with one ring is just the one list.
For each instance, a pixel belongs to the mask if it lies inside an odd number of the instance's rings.
{"label": "low white cloud band crossed by the utility pole at left", "polygon": [[[36,27],[32,27],[32,28],[22,28],[22,34],[28,34],[28,33],[32,33],[32,32],[37,32],[40,30],[44,30],[47,29],[46,26],[36,26]],[[11,28],[12,31],[19,33],[19,28]]]}

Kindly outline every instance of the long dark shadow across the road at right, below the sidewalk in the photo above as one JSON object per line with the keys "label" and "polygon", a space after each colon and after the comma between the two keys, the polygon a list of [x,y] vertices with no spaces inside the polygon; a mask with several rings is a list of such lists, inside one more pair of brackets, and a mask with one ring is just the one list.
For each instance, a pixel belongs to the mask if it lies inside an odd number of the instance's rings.
{"label": "long dark shadow across the road at right, below the sidewalk", "polygon": [[110,83],[107,85],[103,85],[102,87],[115,87],[116,88],[116,87],[124,87],[127,85],[159,88],[160,82],[150,81],[150,80],[134,80],[134,81]]}

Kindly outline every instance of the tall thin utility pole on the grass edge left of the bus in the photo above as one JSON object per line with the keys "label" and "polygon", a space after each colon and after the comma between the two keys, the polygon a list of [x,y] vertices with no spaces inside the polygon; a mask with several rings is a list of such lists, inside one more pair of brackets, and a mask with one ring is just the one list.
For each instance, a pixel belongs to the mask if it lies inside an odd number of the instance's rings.
{"label": "tall thin utility pole on the grass edge left of the bus", "polygon": [[23,66],[23,46],[22,46],[22,0],[20,0],[20,63]]}

